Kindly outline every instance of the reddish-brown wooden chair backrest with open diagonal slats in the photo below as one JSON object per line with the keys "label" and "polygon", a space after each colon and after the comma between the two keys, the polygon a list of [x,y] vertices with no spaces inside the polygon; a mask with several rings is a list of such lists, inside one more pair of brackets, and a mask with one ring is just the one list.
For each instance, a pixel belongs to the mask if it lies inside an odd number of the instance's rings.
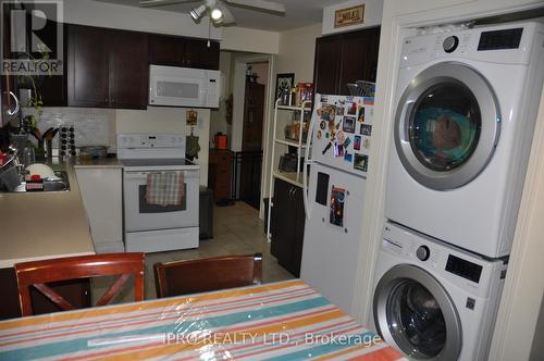
{"label": "reddish-brown wooden chair backrest with open diagonal slats", "polygon": [[37,288],[61,310],[73,310],[75,307],[47,283],[96,276],[120,275],[96,306],[109,303],[131,275],[134,275],[134,298],[140,301],[144,299],[144,253],[139,252],[104,253],[17,263],[15,274],[21,313],[24,316],[33,314],[30,287]]}

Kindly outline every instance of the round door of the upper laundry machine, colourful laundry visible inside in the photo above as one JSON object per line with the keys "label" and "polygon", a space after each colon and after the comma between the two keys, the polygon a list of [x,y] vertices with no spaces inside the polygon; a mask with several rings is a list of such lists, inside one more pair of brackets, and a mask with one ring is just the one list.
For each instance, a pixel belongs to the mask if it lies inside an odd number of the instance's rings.
{"label": "round door of the upper laundry machine, colourful laundry visible inside", "polygon": [[475,70],[456,62],[428,67],[403,94],[395,146],[406,171],[425,187],[460,187],[487,165],[500,114],[495,94]]}

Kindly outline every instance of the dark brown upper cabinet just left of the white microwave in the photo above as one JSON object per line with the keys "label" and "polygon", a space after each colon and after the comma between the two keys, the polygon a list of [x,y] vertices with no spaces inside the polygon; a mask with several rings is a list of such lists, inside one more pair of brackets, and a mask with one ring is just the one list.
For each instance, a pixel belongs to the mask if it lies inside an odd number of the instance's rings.
{"label": "dark brown upper cabinet just left of the white microwave", "polygon": [[67,104],[146,109],[147,34],[69,25]]}

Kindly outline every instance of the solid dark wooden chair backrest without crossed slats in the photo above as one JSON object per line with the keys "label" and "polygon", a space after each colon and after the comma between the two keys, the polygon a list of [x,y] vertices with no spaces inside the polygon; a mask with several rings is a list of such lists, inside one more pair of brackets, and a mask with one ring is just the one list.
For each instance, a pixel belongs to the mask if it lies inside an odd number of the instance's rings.
{"label": "solid dark wooden chair backrest without crossed slats", "polygon": [[256,285],[261,274],[261,253],[154,264],[158,298]]}

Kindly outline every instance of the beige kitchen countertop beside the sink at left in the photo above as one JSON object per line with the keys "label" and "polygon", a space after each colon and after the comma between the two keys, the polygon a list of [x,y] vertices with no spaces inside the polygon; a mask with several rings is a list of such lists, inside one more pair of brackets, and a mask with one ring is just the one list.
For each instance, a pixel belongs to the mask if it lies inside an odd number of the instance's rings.
{"label": "beige kitchen countertop beside the sink at left", "polygon": [[74,166],[51,166],[65,169],[70,191],[0,194],[0,269],[95,253]]}

